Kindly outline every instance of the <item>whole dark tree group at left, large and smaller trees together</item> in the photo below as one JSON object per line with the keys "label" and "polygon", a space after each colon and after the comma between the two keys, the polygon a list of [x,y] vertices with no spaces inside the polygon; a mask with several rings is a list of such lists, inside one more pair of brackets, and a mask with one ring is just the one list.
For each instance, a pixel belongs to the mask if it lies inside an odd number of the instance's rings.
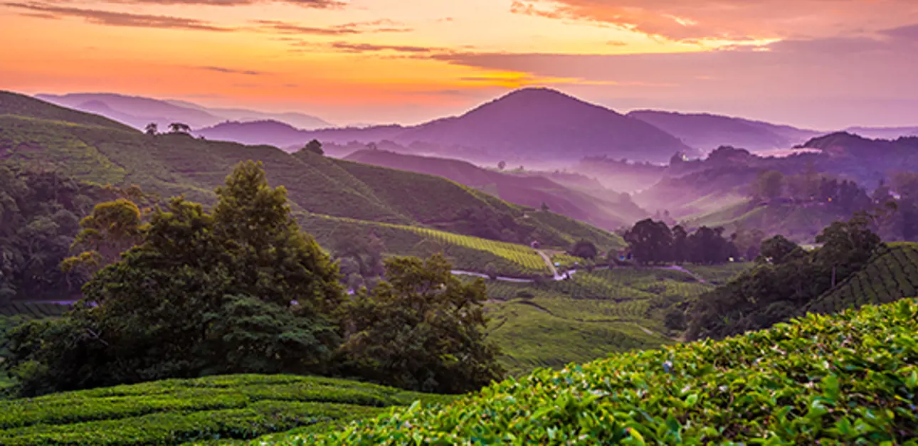
{"label": "whole dark tree group at left, large and smaller trees together", "polygon": [[[503,374],[485,341],[483,282],[460,282],[441,256],[394,258],[385,280],[347,295],[260,164],[216,192],[212,211],[183,197],[146,212],[127,199],[95,206],[77,238],[86,251],[67,262],[92,274],[84,298],[9,336],[3,367],[19,394],[241,373],[462,393]],[[378,273],[377,259],[347,257],[353,273]]]}

